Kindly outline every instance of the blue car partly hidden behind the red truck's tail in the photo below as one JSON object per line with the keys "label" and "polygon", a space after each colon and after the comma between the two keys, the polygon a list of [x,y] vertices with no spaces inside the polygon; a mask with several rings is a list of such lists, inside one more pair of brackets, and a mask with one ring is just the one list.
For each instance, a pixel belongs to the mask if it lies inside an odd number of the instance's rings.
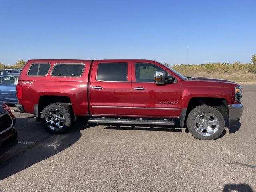
{"label": "blue car partly hidden behind the red truck's tail", "polygon": [[16,103],[16,84],[18,76],[9,75],[0,77],[0,100],[3,102]]}

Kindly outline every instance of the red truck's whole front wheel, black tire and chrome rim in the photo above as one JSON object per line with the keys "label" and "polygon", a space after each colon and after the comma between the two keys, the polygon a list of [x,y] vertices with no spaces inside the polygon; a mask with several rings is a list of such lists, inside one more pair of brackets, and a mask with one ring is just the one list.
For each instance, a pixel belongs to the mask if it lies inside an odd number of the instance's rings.
{"label": "red truck's whole front wheel, black tire and chrome rim", "polygon": [[223,133],[224,126],[224,117],[216,108],[198,106],[188,114],[188,130],[197,139],[214,140]]}

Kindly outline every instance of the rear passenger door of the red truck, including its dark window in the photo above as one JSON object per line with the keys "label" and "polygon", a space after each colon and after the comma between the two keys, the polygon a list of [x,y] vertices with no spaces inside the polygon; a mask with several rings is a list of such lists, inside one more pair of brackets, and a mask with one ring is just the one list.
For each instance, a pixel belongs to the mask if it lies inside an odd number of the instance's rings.
{"label": "rear passenger door of the red truck, including its dark window", "polygon": [[132,114],[130,62],[94,61],[89,91],[92,115]]}

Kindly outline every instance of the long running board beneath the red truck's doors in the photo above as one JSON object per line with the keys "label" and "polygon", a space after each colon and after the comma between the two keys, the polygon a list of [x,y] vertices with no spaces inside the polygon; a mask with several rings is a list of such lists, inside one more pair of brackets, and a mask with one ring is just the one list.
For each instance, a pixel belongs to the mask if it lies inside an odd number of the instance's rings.
{"label": "long running board beneath the red truck's doors", "polygon": [[174,125],[174,121],[169,120],[147,120],[147,119],[110,119],[91,118],[89,123],[116,123],[116,124],[147,124],[147,125]]}

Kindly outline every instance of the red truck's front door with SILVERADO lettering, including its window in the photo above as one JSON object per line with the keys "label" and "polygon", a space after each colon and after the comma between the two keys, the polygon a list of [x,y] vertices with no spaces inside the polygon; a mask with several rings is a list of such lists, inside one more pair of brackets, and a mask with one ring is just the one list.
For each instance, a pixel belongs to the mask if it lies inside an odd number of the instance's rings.
{"label": "red truck's front door with SILVERADO lettering, including its window", "polygon": [[155,84],[155,71],[173,75],[158,63],[132,64],[132,115],[178,117],[181,112],[181,82]]}

